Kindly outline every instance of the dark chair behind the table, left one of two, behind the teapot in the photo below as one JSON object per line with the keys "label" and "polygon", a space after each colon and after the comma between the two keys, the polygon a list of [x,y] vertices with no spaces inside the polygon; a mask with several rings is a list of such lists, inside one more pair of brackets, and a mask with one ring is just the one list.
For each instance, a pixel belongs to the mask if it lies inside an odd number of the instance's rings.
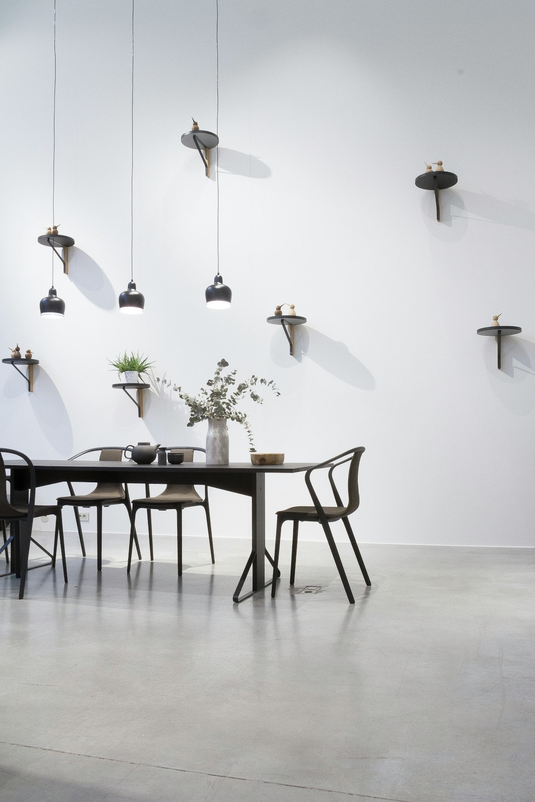
{"label": "dark chair behind the table, left one of two, behind the teapot", "polygon": [[[77,460],[80,456],[86,454],[94,454],[99,452],[100,462],[120,462],[123,459],[124,448],[120,446],[107,446],[103,448],[87,448],[86,451],[75,454],[71,460]],[[132,504],[130,504],[130,497],[128,496],[128,484],[124,487],[120,482],[99,482],[94,490],[87,493],[85,496],[76,496],[71,482],[67,482],[70,496],[62,496],[58,499],[58,504],[61,508],[73,507],[75,510],[76,527],[80,545],[82,547],[83,557],[86,556],[85,544],[83,542],[82,527],[79,519],[79,507],[95,507],[96,508],[96,569],[102,570],[102,510],[103,507],[111,507],[114,504],[124,504],[128,511],[128,518],[132,522]],[[137,540],[136,532],[134,532],[134,539],[136,541],[136,549],[138,557],[141,559],[140,544]],[[57,537],[54,542],[54,554],[57,547]]]}

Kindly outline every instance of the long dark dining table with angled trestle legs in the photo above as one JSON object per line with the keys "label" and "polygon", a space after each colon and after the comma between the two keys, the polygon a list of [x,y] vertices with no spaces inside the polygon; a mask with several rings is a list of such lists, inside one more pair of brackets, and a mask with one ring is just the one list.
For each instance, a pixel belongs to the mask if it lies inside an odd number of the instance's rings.
{"label": "long dark dining table with angled trestle legs", "polygon": [[[133,462],[85,462],[83,460],[34,460],[38,487],[59,482],[125,482],[128,484],[208,484],[211,488],[229,490],[250,496],[252,506],[251,553],[233,594],[234,602],[265,588],[265,476],[270,473],[298,473],[308,470],[314,463],[284,463],[282,465],[252,465],[231,463],[229,465],[206,465],[202,462],[181,465],[137,465]],[[17,504],[27,503],[29,475],[22,460],[6,460],[10,469],[11,500]],[[62,495],[59,493],[59,495]],[[29,537],[21,526],[19,537]],[[27,549],[21,549],[27,553]],[[15,553],[13,571],[20,573]],[[249,571],[253,569],[253,586],[249,593],[240,596],[241,588]],[[23,589],[22,589],[23,590]]]}

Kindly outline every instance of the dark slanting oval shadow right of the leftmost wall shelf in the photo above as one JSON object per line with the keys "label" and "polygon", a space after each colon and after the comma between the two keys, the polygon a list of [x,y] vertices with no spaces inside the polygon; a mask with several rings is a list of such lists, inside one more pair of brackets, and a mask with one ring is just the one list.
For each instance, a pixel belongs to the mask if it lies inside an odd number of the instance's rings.
{"label": "dark slanting oval shadow right of the leftmost wall shelf", "polygon": [[34,370],[34,392],[30,394],[30,404],[35,419],[55,451],[71,456],[74,439],[67,407],[47,371],[40,365]]}

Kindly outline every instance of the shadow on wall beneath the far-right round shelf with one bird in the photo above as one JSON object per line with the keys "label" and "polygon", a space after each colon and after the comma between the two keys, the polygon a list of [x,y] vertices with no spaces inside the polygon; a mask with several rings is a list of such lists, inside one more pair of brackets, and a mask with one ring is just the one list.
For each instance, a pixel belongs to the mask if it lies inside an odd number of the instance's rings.
{"label": "shadow on wall beneath the far-right round shelf with one bird", "polygon": [[492,337],[484,339],[487,340],[483,346],[484,363],[496,397],[517,415],[529,415],[535,409],[535,387],[526,389],[521,385],[526,380],[535,382],[535,343],[518,336],[502,338],[499,371],[496,340]]}

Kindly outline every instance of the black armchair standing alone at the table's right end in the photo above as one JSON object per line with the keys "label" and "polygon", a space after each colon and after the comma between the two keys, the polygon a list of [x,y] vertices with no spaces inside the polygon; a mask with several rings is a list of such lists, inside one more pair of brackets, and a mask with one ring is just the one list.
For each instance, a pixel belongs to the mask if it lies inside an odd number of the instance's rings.
{"label": "black armchair standing alone at the table's right end", "polygon": [[[366,449],[363,446],[359,446],[359,448],[351,448],[347,452],[343,452],[343,454],[338,454],[338,456],[334,456],[331,460],[326,460],[325,462],[320,462],[318,465],[314,465],[314,468],[309,468],[309,470],[305,474],[305,481],[306,487],[310,492],[310,496],[312,501],[314,502],[314,507],[290,507],[288,509],[283,509],[281,512],[277,513],[277,533],[275,535],[275,553],[274,553],[274,573],[273,573],[273,582],[271,585],[271,596],[275,597],[275,591],[277,589],[277,569],[278,569],[278,553],[281,545],[281,529],[282,524],[285,520],[293,520],[294,521],[294,537],[292,540],[292,563],[290,569],[290,585],[294,584],[295,579],[295,561],[298,552],[298,528],[300,521],[313,521],[314,523],[321,524],[323,527],[323,531],[325,532],[325,537],[327,539],[327,543],[329,544],[330,551],[334,557],[334,562],[336,563],[336,567],[338,568],[338,573],[340,574],[340,578],[342,580],[343,586],[346,589],[347,598],[351,602],[351,604],[355,604],[355,598],[353,597],[353,593],[351,593],[351,587],[349,582],[347,581],[346,572],[343,569],[342,561],[340,560],[340,555],[338,554],[338,549],[336,548],[336,544],[334,543],[334,537],[332,532],[330,531],[330,524],[334,523],[336,520],[342,520],[343,525],[346,527],[347,537],[349,537],[350,543],[353,546],[353,551],[355,552],[355,557],[357,561],[359,561],[360,570],[363,572],[364,581],[367,585],[371,585],[370,577],[368,577],[368,573],[366,570],[366,565],[364,565],[363,558],[360,555],[359,546],[355,541],[355,535],[353,534],[353,530],[351,529],[351,525],[347,516],[351,515],[351,512],[355,512],[355,509],[359,507],[359,464],[360,458],[363,455],[363,452]],[[333,479],[333,471],[334,468],[338,468],[338,465],[342,465],[344,463],[350,462],[351,465],[349,466],[349,476],[347,478],[347,492],[348,492],[348,501],[347,505],[344,507],[342,504],[342,499],[336,485],[334,484]],[[318,468],[329,468],[329,482],[330,487],[332,489],[334,495],[334,501],[336,502],[336,507],[322,507],[319,503],[318,496],[312,486],[312,482],[310,480],[310,475],[313,471],[317,471]]]}

